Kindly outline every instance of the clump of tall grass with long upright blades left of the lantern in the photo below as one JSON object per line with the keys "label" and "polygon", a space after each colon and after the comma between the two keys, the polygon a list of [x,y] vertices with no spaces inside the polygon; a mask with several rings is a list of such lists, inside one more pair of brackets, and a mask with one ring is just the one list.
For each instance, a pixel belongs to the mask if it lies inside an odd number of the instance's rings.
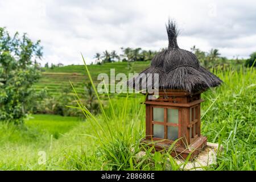
{"label": "clump of tall grass with long upright blades left of the lantern", "polygon": [[[84,60],[84,57],[82,59]],[[108,95],[109,107],[105,109],[86,64],[85,70],[88,73],[88,78],[92,83],[100,104],[104,122],[103,126],[101,121],[82,105],[76,89],[72,85],[77,105],[79,105],[79,107],[75,108],[80,109],[84,113],[93,130],[94,135],[91,137],[95,138],[96,143],[98,143],[97,154],[100,154],[104,161],[104,167],[101,169],[178,169],[179,167],[172,159],[170,153],[167,152],[165,155],[162,155],[159,152],[155,152],[155,154],[152,154],[153,147],[149,150],[144,148],[146,155],[143,158],[137,156],[139,151],[141,151],[140,140],[144,137],[144,106],[138,106],[138,98],[144,101],[144,97],[131,99],[135,95],[127,94],[124,100],[115,100],[113,105]],[[74,108],[73,106],[68,107]],[[170,160],[167,160],[167,158]]]}

